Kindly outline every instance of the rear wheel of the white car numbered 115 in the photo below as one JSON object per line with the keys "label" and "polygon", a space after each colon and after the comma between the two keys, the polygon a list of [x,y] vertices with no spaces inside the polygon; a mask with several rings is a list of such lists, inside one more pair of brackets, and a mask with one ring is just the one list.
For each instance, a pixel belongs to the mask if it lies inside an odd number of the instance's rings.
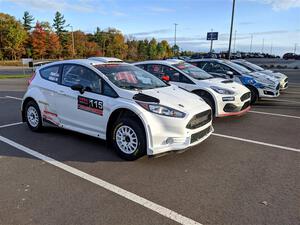
{"label": "rear wheel of the white car numbered 115", "polygon": [[25,106],[25,119],[31,130],[42,130],[43,125],[41,112],[38,105],[34,101],[29,101]]}

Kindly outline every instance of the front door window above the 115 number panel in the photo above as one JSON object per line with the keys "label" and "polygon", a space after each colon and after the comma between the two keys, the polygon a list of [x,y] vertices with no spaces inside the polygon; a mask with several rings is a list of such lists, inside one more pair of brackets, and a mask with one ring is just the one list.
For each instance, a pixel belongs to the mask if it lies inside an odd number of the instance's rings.
{"label": "front door window above the 115 number panel", "polygon": [[80,65],[65,65],[62,84],[71,87],[81,84],[86,91],[101,94],[101,78],[92,70]]}

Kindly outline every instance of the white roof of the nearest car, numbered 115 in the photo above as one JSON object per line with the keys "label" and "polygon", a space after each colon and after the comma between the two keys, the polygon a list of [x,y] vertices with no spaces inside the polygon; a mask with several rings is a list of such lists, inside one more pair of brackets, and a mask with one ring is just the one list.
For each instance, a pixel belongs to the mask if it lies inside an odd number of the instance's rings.
{"label": "white roof of the nearest car, numbered 115", "polygon": [[48,63],[46,65],[43,65],[43,67],[62,64],[62,63],[74,63],[74,64],[80,64],[80,65],[99,65],[99,64],[108,64],[108,63],[124,63],[122,60],[117,58],[108,58],[108,57],[92,57],[88,59],[70,59],[70,60],[61,60],[61,61],[55,61],[52,63]]}

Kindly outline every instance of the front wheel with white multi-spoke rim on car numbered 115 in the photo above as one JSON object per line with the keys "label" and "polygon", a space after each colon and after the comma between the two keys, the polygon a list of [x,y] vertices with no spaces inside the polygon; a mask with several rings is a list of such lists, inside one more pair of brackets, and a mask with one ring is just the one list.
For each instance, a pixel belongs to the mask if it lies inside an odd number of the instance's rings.
{"label": "front wheel with white multi-spoke rim on car numbered 115", "polygon": [[146,154],[146,136],[143,127],[131,118],[121,118],[115,123],[112,145],[125,160],[136,160]]}

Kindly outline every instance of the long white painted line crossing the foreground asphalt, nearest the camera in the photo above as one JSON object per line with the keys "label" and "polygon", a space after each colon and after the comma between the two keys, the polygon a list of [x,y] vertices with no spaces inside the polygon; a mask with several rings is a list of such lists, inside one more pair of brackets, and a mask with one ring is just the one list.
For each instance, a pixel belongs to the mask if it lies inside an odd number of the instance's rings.
{"label": "long white painted line crossing the foreground asphalt, nearest the camera", "polygon": [[157,212],[158,214],[160,214],[162,216],[165,216],[165,217],[167,217],[167,218],[169,218],[169,219],[171,219],[175,222],[178,222],[180,224],[185,224],[185,225],[192,225],[192,224],[201,225],[200,223],[198,223],[198,222],[196,222],[196,221],[194,221],[190,218],[187,218],[185,216],[182,216],[181,214],[179,214],[177,212],[174,212],[174,211],[172,211],[172,210],[170,210],[166,207],[163,207],[163,206],[158,205],[154,202],[151,202],[148,199],[140,197],[140,196],[138,196],[138,195],[136,195],[132,192],[126,191],[123,188],[120,188],[120,187],[118,187],[114,184],[108,183],[107,181],[104,181],[100,178],[94,177],[94,176],[92,176],[90,174],[87,174],[87,173],[85,173],[81,170],[78,170],[74,167],[71,167],[71,166],[68,166],[64,163],[56,161],[55,159],[52,159],[48,156],[45,156],[41,153],[38,153],[37,151],[34,151],[30,148],[27,148],[23,145],[20,145],[20,144],[12,141],[10,139],[7,139],[3,136],[0,136],[0,141],[6,143],[8,145],[11,145],[11,146],[23,151],[23,152],[26,152],[26,153],[28,153],[28,154],[36,157],[36,158],[39,158],[39,159],[41,159],[41,160],[43,160],[43,161],[45,161],[45,162],[47,162],[47,163],[49,163],[53,166],[56,166],[56,167],[58,167],[62,170],[65,170],[65,171],[67,171],[67,172],[69,172],[69,173],[71,173],[75,176],[78,176],[82,179],[85,179],[85,180],[91,182],[91,183],[94,183],[94,184],[96,184],[96,185],[98,185],[98,186],[100,186],[100,187],[102,187],[102,188],[104,188],[108,191],[111,191],[111,192],[113,192],[117,195],[120,195],[120,196],[122,196],[122,197],[124,197],[124,198],[126,198],[130,201],[133,201],[133,202],[135,202],[135,203],[137,203],[141,206],[144,206],[145,208],[148,208],[148,209],[150,209],[154,212]]}

